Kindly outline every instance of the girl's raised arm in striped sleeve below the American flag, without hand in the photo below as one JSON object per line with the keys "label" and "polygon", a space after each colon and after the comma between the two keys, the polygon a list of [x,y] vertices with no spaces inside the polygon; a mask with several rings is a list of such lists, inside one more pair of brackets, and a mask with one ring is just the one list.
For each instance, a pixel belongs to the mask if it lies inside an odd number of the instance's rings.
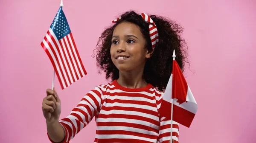
{"label": "girl's raised arm in striped sleeve below the American flag, without hand", "polygon": [[[54,141],[68,143],[73,139],[99,113],[103,101],[102,95],[102,87],[96,87],[81,99],[70,115],[49,127],[47,124],[49,140],[52,143],[55,143]],[[55,138],[62,140],[55,140]]]}

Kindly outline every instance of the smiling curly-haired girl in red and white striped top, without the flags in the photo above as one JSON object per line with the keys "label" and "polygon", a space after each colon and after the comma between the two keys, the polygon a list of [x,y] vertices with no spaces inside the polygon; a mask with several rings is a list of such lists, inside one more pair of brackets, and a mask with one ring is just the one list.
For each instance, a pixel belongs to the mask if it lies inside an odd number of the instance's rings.
{"label": "smiling curly-haired girl in red and white striped top, without the flags", "polygon": [[[47,89],[42,109],[52,143],[68,143],[95,117],[94,143],[170,143],[170,124],[158,114],[172,73],[172,53],[183,70],[183,29],[164,17],[128,11],[113,21],[97,44],[97,66],[112,81],[87,93],[67,118],[61,101]],[[173,121],[172,143],[178,143]]]}

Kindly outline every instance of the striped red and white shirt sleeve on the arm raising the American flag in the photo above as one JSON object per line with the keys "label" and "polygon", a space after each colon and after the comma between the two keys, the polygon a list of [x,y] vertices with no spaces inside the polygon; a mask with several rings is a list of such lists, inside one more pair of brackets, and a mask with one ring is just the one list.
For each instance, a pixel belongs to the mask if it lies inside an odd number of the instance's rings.
{"label": "striped red and white shirt sleeve on the arm raising the American flag", "polygon": [[[94,116],[99,115],[104,102],[102,99],[103,94],[103,85],[95,87],[94,90],[91,90],[81,99],[79,104],[71,111],[70,115],[59,121],[65,131],[65,138],[61,143],[69,143],[81,129],[90,123]],[[50,138],[49,140],[54,143]]]}

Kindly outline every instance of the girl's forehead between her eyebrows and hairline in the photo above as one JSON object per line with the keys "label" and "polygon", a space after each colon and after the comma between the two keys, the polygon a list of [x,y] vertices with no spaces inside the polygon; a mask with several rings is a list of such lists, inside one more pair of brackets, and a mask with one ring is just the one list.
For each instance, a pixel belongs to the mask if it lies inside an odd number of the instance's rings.
{"label": "girl's forehead between her eyebrows and hairline", "polygon": [[140,27],[138,25],[135,25],[130,22],[123,22],[116,26],[116,28],[113,31],[113,36],[118,35],[137,35],[137,36],[143,36],[140,32]]}

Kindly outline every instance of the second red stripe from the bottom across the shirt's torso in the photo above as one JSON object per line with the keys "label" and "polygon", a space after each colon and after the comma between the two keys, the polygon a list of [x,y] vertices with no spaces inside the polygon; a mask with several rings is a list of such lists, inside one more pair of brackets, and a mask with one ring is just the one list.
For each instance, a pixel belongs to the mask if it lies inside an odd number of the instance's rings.
{"label": "second red stripe from the bottom across the shirt's torso", "polygon": [[98,135],[133,135],[137,137],[145,137],[148,139],[155,139],[155,140],[157,140],[158,138],[157,135],[149,135],[149,134],[143,134],[138,132],[124,131],[124,130],[111,130],[111,131],[97,130],[96,134]]}

